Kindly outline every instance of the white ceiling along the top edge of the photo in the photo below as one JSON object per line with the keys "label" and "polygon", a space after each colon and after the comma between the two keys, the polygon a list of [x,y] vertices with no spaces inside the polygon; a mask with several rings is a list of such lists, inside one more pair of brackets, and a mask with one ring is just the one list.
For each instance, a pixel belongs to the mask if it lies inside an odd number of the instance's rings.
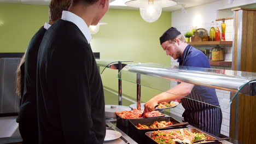
{"label": "white ceiling along the top edge of the photo", "polygon": [[[112,0],[113,1],[113,0]],[[110,9],[133,9],[138,8],[127,7],[125,2],[130,0],[115,0],[110,3]],[[163,11],[174,11],[182,8],[182,4],[185,4],[185,8],[195,7],[197,5],[212,3],[219,0],[174,0],[178,4],[173,7],[163,8]],[[0,3],[15,3],[15,4],[36,4],[36,5],[48,5],[50,0],[0,0]]]}

